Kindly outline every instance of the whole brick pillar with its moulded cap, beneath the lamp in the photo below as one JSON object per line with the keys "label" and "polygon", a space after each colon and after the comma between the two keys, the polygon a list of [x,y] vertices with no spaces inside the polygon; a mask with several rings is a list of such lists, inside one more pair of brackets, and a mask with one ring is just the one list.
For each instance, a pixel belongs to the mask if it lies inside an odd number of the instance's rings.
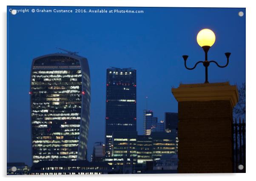
{"label": "whole brick pillar with its moulded cap, beneath the lamp", "polygon": [[232,173],[236,86],[228,82],[179,85],[178,173]]}

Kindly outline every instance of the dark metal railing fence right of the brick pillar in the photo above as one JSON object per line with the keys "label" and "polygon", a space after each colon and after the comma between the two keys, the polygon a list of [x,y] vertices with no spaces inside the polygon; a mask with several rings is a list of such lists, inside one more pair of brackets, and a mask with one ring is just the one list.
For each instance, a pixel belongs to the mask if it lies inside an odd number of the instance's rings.
{"label": "dark metal railing fence right of the brick pillar", "polygon": [[245,173],[245,120],[241,118],[233,123],[233,170]]}

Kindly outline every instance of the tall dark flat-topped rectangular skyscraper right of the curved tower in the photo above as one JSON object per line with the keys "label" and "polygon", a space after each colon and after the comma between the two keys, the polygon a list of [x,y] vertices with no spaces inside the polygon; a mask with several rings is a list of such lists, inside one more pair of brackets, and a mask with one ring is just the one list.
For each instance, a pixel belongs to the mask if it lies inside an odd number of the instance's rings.
{"label": "tall dark flat-topped rectangular skyscraper right of the curved tower", "polygon": [[136,131],[136,70],[108,68],[106,82],[106,156],[114,131]]}

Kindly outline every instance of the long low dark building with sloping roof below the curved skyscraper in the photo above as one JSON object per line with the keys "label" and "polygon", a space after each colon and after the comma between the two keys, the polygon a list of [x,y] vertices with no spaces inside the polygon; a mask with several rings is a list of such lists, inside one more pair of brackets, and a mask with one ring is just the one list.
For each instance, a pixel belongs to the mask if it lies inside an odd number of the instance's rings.
{"label": "long low dark building with sloping roof below the curved skyscraper", "polygon": [[119,173],[104,162],[77,161],[40,161],[31,167],[28,175],[85,175]]}

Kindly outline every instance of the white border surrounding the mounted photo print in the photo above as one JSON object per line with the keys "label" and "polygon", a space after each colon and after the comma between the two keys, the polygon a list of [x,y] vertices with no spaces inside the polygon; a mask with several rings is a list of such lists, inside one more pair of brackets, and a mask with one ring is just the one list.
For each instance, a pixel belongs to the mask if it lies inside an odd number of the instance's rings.
{"label": "white border surrounding the mounted photo print", "polygon": [[[63,0],[64,1],[64,0]],[[255,32],[256,32],[256,8],[253,6],[253,1],[245,1],[245,0],[179,0],[179,1],[171,1],[169,0],[166,2],[165,0],[71,0],[60,2],[60,0],[1,0],[1,40],[2,43],[0,44],[0,51],[2,60],[0,61],[1,67],[1,97],[2,104],[0,104],[0,111],[1,111],[1,137],[3,141],[2,149],[0,149],[1,156],[1,175],[4,179],[9,178],[11,180],[28,180],[28,179],[38,179],[38,180],[54,180],[56,178],[60,178],[60,176],[31,176],[31,175],[24,175],[24,176],[6,176],[6,120],[7,120],[7,110],[6,110],[6,89],[7,89],[7,63],[6,63],[6,6],[135,6],[135,7],[236,7],[236,8],[246,8],[246,106],[247,106],[247,145],[246,145],[246,174],[151,174],[151,175],[68,175],[68,176],[61,176],[61,179],[70,180],[72,177],[75,179],[104,179],[104,180],[115,180],[115,179],[122,179],[122,181],[131,180],[131,179],[146,179],[146,180],[167,180],[167,179],[186,179],[191,181],[216,181],[216,179],[226,178],[232,180],[247,180],[250,178],[255,178],[253,175],[254,168],[255,168],[255,140],[253,139],[255,136],[255,132],[253,129],[256,128],[255,120],[253,119],[255,116],[253,114],[255,94],[255,84],[254,79],[256,77],[256,71],[254,70],[255,58],[253,56],[254,48],[255,48]],[[239,45],[238,45],[239,46]],[[36,177],[36,178],[35,178]],[[228,177],[228,178],[227,178]]]}

